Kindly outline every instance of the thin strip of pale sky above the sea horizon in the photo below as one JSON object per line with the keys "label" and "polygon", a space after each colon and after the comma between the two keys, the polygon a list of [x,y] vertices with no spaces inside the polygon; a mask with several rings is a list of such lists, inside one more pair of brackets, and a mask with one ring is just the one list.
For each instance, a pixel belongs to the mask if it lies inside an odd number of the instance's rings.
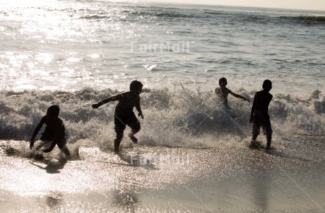
{"label": "thin strip of pale sky above the sea horizon", "polygon": [[325,11],[325,0],[146,0],[181,4],[213,4],[224,6],[253,6],[264,8],[291,8]]}

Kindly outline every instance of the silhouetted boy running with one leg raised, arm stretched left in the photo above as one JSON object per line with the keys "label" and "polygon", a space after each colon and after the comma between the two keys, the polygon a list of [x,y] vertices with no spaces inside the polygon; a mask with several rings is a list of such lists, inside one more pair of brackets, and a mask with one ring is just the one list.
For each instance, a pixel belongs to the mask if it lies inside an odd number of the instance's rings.
{"label": "silhouetted boy running with one leg raised, arm stretched left", "polygon": [[119,151],[119,144],[122,141],[124,129],[126,128],[126,125],[129,125],[131,127],[131,133],[129,134],[129,137],[131,138],[132,142],[137,143],[138,139],[134,137],[134,134],[136,132],[140,131],[141,126],[140,122],[136,118],[136,115],[134,115],[134,107],[136,107],[136,110],[138,110],[138,116],[143,119],[141,107],[140,107],[140,93],[142,91],[142,84],[140,81],[132,81],[130,84],[130,91],[125,92],[122,94],[119,94],[117,96],[113,96],[111,98],[107,98],[105,100],[102,100],[100,103],[93,104],[93,108],[98,108],[101,105],[105,103],[109,103],[110,101],[119,100],[119,103],[117,103],[117,106],[115,108],[115,114],[114,114],[114,129],[117,134],[116,139],[114,140],[114,151]]}

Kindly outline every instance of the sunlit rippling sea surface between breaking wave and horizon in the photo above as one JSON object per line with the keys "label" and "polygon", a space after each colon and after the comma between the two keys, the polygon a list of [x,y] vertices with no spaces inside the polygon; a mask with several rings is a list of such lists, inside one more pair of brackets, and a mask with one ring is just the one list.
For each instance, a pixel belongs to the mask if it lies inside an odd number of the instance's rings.
{"label": "sunlit rippling sea surface between breaking wave and horizon", "polygon": [[[324,90],[325,12],[110,1],[2,1],[3,91]],[[194,89],[194,90],[195,90]]]}

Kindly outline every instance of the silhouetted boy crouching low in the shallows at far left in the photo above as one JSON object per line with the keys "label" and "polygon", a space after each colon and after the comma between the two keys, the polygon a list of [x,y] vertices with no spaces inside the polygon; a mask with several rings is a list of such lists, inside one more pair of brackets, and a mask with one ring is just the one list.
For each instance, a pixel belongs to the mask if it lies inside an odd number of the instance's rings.
{"label": "silhouetted boy crouching low in the shallows at far left", "polygon": [[43,149],[44,152],[49,152],[54,149],[54,146],[59,146],[59,149],[70,156],[69,149],[66,148],[66,133],[63,121],[59,118],[60,108],[58,105],[52,105],[47,109],[47,114],[42,117],[40,123],[34,130],[32,134],[32,139],[30,139],[30,149],[34,146],[34,140],[38,132],[42,128],[42,125],[46,125],[45,132],[42,133],[40,140],[43,142],[52,142],[51,146],[47,149]]}

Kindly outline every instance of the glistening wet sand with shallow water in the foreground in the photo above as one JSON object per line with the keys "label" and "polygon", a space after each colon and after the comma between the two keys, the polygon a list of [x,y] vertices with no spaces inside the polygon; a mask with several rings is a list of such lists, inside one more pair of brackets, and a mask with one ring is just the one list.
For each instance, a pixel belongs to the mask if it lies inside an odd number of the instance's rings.
{"label": "glistening wet sand with shallow water in the foreground", "polygon": [[[8,144],[16,144],[17,150],[10,151]],[[321,145],[312,151],[314,156],[295,156],[295,149],[267,154],[247,147],[146,145],[122,148],[120,154],[114,154],[80,146],[79,156],[67,161],[57,150],[42,160],[36,160],[35,154],[26,157],[28,151],[21,153],[23,146],[23,142],[1,141],[1,212],[325,209]]]}

